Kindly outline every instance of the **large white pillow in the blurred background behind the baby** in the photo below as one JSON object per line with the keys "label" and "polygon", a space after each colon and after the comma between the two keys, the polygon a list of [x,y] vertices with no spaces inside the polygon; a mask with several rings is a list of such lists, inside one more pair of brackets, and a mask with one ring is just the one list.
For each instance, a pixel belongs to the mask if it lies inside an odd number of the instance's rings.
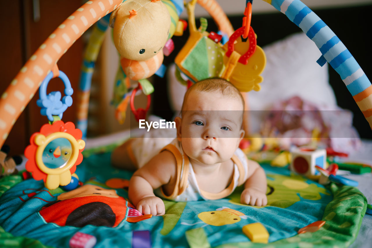
{"label": "large white pillow in the blurred background behind the baby", "polygon": [[[261,74],[261,90],[248,93],[251,110],[265,110],[275,102],[295,95],[317,105],[326,105],[326,109],[333,109],[337,105],[333,89],[328,83],[328,63],[319,66],[316,61],[321,52],[303,32],[274,42],[263,47],[263,50],[267,63]],[[174,70],[175,66],[172,65],[167,72],[168,92],[171,94],[171,108],[180,110],[186,86],[177,82]],[[251,132],[258,131],[262,114],[261,111],[251,111]]]}

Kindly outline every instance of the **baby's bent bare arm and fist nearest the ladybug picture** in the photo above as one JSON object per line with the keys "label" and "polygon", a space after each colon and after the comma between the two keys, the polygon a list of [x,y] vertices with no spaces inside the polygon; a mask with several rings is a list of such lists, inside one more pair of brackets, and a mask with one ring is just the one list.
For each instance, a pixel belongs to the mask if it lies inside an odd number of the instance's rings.
{"label": "baby's bent bare arm and fist nearest the ladybug picture", "polygon": [[129,181],[129,200],[143,214],[163,215],[163,200],[154,195],[154,189],[168,184],[176,174],[176,159],[163,151],[138,169]]}

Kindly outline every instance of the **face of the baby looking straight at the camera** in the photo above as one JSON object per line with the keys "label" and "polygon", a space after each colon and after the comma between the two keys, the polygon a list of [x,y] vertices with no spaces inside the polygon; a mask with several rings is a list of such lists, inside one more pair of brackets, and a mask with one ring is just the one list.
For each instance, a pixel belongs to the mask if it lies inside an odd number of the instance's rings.
{"label": "face of the baby looking straight at the camera", "polygon": [[186,100],[177,138],[191,163],[213,165],[231,159],[244,136],[240,99],[195,90]]}

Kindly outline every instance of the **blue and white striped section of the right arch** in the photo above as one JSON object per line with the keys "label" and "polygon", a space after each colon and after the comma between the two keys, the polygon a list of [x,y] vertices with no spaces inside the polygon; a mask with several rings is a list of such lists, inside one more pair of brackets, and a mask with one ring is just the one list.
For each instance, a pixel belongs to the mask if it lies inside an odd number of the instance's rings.
{"label": "blue and white striped section of the right arch", "polygon": [[371,82],[345,45],[304,3],[300,0],[272,0],[271,5],[284,13],[315,42],[353,96],[371,86]]}

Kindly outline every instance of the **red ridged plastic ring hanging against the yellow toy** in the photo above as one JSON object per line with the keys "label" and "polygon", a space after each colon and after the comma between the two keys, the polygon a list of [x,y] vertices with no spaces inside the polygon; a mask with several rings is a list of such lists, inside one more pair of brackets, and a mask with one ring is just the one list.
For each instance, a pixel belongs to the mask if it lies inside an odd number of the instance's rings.
{"label": "red ridged plastic ring hanging against the yellow toy", "polygon": [[[232,54],[232,52],[234,51],[234,42],[236,41],[236,39],[243,35],[243,32],[244,32],[244,28],[245,27],[240,27],[238,28],[234,34],[232,34],[230,36],[230,39],[228,41],[228,50],[227,52],[225,53],[225,55],[227,57],[230,57],[230,55]],[[254,52],[256,51],[256,45],[257,45],[257,40],[256,40],[256,35],[254,34],[254,31],[253,31],[253,28],[250,27],[249,28],[249,35],[248,35],[248,39],[249,39],[249,48],[248,48],[248,51],[241,55],[238,62],[241,63],[241,64],[247,64],[248,63],[248,59],[252,56],[252,54],[254,54]]]}

